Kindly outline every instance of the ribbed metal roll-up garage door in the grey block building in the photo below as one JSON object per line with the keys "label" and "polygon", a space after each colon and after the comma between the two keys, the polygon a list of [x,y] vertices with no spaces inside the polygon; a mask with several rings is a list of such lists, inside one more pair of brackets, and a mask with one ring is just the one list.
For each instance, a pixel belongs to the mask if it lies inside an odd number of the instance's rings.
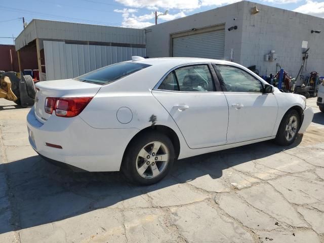
{"label": "ribbed metal roll-up garage door in the grey block building", "polygon": [[172,38],[173,57],[201,57],[223,59],[225,30],[193,33]]}

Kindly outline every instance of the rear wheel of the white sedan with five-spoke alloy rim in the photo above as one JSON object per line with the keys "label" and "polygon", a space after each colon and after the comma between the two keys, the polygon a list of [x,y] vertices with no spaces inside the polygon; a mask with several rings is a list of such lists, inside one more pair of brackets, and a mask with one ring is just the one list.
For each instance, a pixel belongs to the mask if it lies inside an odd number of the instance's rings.
{"label": "rear wheel of the white sedan with five-spoke alloy rim", "polygon": [[170,138],[150,131],[135,138],[127,147],[121,170],[132,183],[150,185],[170,172],[174,160],[175,151]]}

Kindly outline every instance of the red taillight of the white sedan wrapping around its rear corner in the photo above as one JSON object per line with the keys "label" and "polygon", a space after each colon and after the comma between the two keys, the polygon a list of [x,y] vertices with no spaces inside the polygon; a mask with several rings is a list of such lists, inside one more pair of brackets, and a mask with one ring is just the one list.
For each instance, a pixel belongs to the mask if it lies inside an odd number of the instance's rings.
{"label": "red taillight of the white sedan wrapping around its rear corner", "polygon": [[93,97],[47,97],[45,100],[45,111],[46,113],[52,114],[55,110],[57,116],[73,117],[81,113],[92,98]]}

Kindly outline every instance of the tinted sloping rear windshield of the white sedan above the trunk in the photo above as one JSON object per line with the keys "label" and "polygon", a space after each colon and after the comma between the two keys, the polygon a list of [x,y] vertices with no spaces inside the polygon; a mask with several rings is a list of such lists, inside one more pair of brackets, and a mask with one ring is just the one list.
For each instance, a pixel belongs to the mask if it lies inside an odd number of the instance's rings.
{"label": "tinted sloping rear windshield of the white sedan above the trunk", "polygon": [[88,72],[74,79],[86,83],[106,85],[149,66],[137,62],[119,62]]}

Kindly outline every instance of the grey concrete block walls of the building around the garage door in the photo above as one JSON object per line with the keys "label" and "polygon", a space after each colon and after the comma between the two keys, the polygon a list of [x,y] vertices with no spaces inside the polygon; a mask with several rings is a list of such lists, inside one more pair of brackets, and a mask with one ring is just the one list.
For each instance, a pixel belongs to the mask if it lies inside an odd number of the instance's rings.
{"label": "grey concrete block walls of the building around the garage door", "polygon": [[[260,12],[252,15],[251,9],[255,6]],[[267,75],[279,70],[278,63],[295,77],[302,64],[302,41],[307,41],[310,50],[304,73],[315,70],[324,75],[323,18],[248,1],[147,27],[147,55],[169,57],[172,33],[222,23],[225,23],[225,60],[229,60],[233,48],[234,62],[246,67],[256,65],[260,74]],[[237,25],[237,30],[227,30],[234,25]],[[312,29],[322,32],[311,33]],[[271,50],[277,54],[277,60],[264,61],[264,56]]]}

